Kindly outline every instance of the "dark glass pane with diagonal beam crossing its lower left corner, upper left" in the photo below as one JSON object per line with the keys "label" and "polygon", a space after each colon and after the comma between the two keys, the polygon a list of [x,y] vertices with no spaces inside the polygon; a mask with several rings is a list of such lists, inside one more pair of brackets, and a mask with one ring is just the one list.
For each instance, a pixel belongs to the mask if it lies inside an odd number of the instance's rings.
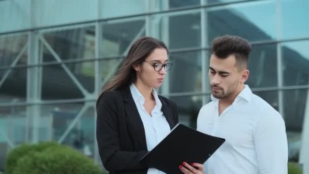
{"label": "dark glass pane with diagonal beam crossing its lower left corner, upper left", "polygon": [[43,37],[46,40],[41,42],[43,62],[95,57],[95,27],[49,32]]}

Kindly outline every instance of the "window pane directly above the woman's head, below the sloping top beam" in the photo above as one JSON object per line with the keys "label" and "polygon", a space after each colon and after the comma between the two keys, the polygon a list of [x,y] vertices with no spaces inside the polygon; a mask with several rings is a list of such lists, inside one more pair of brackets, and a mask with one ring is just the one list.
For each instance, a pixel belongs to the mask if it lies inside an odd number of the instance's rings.
{"label": "window pane directly above the woman's head, below the sloping top beam", "polygon": [[200,11],[170,16],[153,15],[150,22],[151,36],[164,41],[169,49],[201,46]]}

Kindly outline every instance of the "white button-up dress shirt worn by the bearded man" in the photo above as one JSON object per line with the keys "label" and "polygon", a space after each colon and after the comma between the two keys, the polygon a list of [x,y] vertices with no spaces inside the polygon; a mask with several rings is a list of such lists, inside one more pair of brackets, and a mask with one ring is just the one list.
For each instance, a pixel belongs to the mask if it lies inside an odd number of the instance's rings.
{"label": "white button-up dress shirt worn by the bearded man", "polygon": [[219,99],[204,105],[197,130],[226,141],[205,162],[207,174],[287,174],[288,142],[281,114],[248,85],[219,117]]}

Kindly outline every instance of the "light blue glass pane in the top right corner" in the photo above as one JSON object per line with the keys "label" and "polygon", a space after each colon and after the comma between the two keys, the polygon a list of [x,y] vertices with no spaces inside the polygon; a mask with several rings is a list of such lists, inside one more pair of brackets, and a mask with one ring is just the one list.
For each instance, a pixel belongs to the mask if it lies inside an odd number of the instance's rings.
{"label": "light blue glass pane in the top right corner", "polygon": [[281,1],[282,39],[309,37],[309,1]]}

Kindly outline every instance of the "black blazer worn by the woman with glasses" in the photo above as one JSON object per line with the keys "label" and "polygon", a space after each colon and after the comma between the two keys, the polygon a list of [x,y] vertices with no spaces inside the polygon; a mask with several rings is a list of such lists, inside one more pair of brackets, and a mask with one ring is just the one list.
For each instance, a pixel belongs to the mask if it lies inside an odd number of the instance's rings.
{"label": "black blazer worn by the woman with glasses", "polygon": [[[176,104],[159,96],[172,129],[178,123]],[[139,160],[148,153],[145,130],[130,87],[105,92],[97,105],[97,141],[104,167],[110,173],[146,174]]]}

